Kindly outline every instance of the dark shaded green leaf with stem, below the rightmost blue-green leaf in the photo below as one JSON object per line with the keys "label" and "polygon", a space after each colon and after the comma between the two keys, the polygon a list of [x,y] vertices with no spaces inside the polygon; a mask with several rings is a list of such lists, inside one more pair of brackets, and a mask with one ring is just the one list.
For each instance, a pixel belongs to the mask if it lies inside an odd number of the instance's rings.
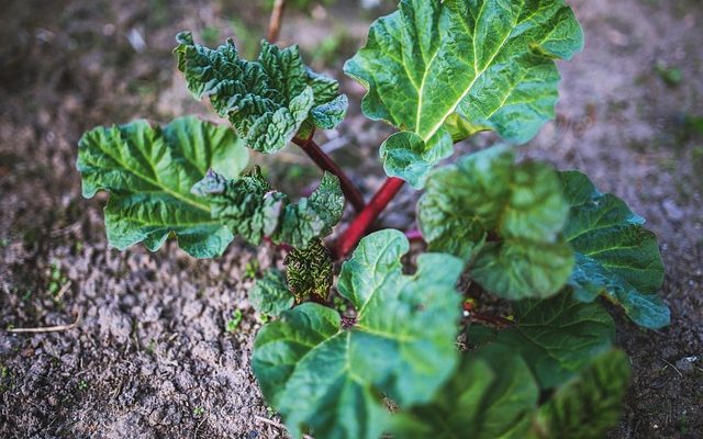
{"label": "dark shaded green leaf with stem, below the rightmost blue-green leaf", "polygon": [[516,324],[496,334],[472,325],[469,340],[489,341],[520,352],[542,389],[555,387],[576,376],[590,359],[612,346],[615,324],[599,303],[582,303],[571,294],[513,304]]}

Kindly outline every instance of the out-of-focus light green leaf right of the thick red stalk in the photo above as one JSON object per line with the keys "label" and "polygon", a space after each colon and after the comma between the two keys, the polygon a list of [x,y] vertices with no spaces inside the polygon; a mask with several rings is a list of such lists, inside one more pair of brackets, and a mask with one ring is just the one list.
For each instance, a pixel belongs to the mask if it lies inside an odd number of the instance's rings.
{"label": "out-of-focus light green leaf right of the thick red stalk", "polygon": [[470,262],[471,278],[506,299],[546,297],[567,282],[573,256],[561,235],[569,206],[557,172],[515,165],[504,146],[436,169],[419,203],[433,251]]}

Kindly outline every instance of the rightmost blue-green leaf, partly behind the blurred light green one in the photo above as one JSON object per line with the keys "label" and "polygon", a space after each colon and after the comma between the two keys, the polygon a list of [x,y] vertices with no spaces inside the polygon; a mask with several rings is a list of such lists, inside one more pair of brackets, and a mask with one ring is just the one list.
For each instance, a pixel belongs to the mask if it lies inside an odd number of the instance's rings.
{"label": "rightmost blue-green leaf, partly behind the blurred light green one", "polygon": [[566,237],[576,251],[569,284],[581,301],[604,294],[647,328],[669,325],[670,312],[657,294],[663,263],[657,236],[621,199],[602,194],[581,172],[561,173],[571,214]]}

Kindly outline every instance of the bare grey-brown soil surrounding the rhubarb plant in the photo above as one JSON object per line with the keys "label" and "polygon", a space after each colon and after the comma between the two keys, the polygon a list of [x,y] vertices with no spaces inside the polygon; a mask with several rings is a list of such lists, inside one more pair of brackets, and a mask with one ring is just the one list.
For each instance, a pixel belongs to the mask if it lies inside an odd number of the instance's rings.
{"label": "bare grey-brown soil surrounding the rhubarb plant", "polygon": [[[341,3],[289,11],[282,32],[283,42],[301,43],[315,68],[337,78],[380,13]],[[193,260],[174,244],[155,254],[141,246],[110,249],[105,198],[83,200],[75,170],[75,145],[92,126],[187,113],[212,117],[176,71],[174,35],[185,29],[214,34],[215,42],[234,35],[253,50],[266,16],[250,4],[3,1],[0,437],[284,436],[267,423],[278,419],[248,367],[261,322],[246,299],[252,278],[280,264],[281,255],[238,241],[212,261]],[[659,331],[618,316],[617,344],[632,357],[634,378],[611,437],[703,438],[703,128],[694,123],[703,115],[703,5],[570,4],[587,48],[560,64],[557,120],[524,153],[588,172],[649,221],[672,311],[671,327]],[[358,86],[343,80],[343,87],[353,98],[350,117],[320,140],[370,194],[383,178],[372,159],[389,130],[359,116]],[[494,140],[479,136],[459,153]],[[319,177],[294,148],[256,160],[282,169],[274,177],[288,192],[304,191]],[[415,198],[405,190],[383,225],[412,224]],[[236,311],[242,322],[227,330]],[[68,328],[4,330],[55,325]]]}

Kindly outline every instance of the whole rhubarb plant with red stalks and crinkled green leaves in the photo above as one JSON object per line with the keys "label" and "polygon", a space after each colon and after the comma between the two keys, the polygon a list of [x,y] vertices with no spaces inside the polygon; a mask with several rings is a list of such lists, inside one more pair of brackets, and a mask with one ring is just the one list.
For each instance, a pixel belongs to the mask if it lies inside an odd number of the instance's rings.
{"label": "whole rhubarb plant with red stalks and crinkled green leaves", "polygon": [[[94,128],[78,147],[83,195],[110,194],[120,249],[174,237],[212,258],[239,236],[286,252],[249,303],[272,318],[252,371],[290,436],[601,438],[617,421],[631,372],[615,322],[670,316],[644,218],[583,173],[518,158],[555,115],[555,61],[583,45],[562,0],[401,0],[371,24],[345,72],[367,89],[364,115],[398,132],[368,204],[315,143],[345,119],[338,81],[297,46],[264,41],[246,60],[232,41],[177,43],[190,92],[230,126]],[[439,165],[483,131],[502,140]],[[291,143],[324,171],[298,201],[248,165],[247,148]],[[424,190],[420,235],[405,232],[426,252],[401,230],[369,234],[405,182]],[[333,236],[345,200],[357,214]]]}

